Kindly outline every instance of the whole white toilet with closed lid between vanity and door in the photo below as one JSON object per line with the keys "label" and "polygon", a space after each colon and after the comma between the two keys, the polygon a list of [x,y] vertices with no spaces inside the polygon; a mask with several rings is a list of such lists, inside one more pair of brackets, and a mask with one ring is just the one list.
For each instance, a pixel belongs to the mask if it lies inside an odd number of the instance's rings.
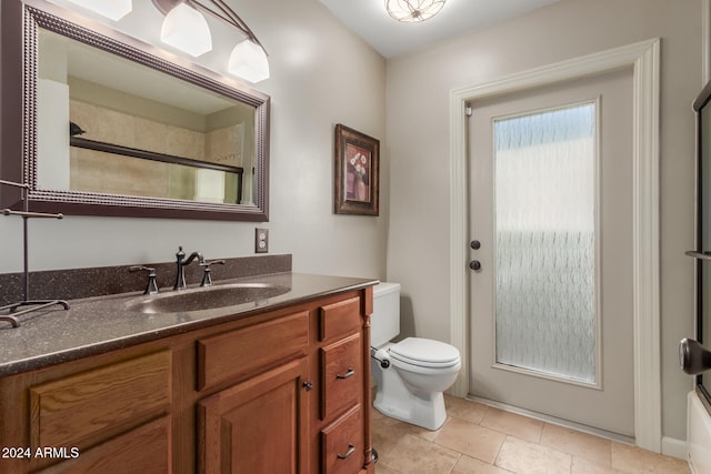
{"label": "whole white toilet with closed lid between vanity and door", "polygon": [[462,366],[457,347],[422,337],[390,340],[400,333],[400,284],[373,289],[371,373],[378,384],[373,406],[387,416],[437,430],[444,423],[444,397]]}

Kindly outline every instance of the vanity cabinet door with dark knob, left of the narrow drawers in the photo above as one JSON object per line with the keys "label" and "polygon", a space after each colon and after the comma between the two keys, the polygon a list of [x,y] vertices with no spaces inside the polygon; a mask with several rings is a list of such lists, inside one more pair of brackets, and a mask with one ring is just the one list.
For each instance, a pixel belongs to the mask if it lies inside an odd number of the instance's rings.
{"label": "vanity cabinet door with dark knob, left of the narrow drawers", "polygon": [[209,396],[198,404],[202,473],[306,473],[307,359]]}

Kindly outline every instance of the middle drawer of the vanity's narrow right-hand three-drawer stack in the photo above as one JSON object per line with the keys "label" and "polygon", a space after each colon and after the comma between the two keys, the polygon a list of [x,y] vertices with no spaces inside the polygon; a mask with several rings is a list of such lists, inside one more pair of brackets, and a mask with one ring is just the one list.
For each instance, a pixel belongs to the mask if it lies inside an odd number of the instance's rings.
{"label": "middle drawer of the vanity's narrow right-hand three-drawer stack", "polygon": [[321,349],[321,420],[356,405],[363,387],[360,333]]}

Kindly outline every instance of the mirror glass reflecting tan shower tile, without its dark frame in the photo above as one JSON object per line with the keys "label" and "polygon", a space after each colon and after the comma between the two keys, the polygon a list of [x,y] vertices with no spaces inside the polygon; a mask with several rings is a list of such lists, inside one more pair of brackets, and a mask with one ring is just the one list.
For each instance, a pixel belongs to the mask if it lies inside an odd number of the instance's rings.
{"label": "mirror glass reflecting tan shower tile, without its dark frame", "polygon": [[253,203],[253,107],[46,29],[38,63],[38,188]]}

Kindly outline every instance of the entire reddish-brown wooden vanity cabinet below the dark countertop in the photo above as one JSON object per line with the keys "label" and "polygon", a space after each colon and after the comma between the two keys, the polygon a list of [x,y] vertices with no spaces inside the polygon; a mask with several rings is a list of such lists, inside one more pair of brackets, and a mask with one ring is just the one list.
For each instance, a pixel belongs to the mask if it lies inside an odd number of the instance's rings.
{"label": "entire reddish-brown wooden vanity cabinet below the dark countertop", "polygon": [[367,288],[2,377],[0,472],[373,473],[371,312]]}

